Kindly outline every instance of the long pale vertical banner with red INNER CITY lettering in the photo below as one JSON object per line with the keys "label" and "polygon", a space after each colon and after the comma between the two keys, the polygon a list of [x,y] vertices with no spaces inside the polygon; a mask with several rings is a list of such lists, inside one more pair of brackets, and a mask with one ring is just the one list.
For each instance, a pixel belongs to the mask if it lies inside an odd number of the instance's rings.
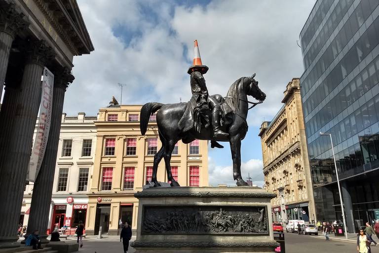
{"label": "long pale vertical banner with red INNER CITY lettering", "polygon": [[41,168],[43,156],[45,155],[51,124],[53,84],[54,75],[47,68],[44,68],[42,76],[41,104],[39,106],[39,120],[35,129],[37,134],[33,144],[32,155],[30,157],[28,175],[26,177],[26,180],[31,182],[36,181],[38,171]]}

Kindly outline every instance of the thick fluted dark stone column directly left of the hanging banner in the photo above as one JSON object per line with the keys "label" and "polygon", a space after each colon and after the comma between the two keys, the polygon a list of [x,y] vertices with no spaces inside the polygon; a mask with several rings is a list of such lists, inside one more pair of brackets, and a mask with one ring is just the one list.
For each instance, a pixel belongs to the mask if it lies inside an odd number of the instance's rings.
{"label": "thick fluted dark stone column directly left of the hanging banner", "polygon": [[[0,248],[19,247],[17,226],[31,155],[31,143],[41,100],[41,75],[53,50],[42,41],[28,41],[24,68],[6,157],[0,161]],[[6,122],[3,124],[7,124]]]}

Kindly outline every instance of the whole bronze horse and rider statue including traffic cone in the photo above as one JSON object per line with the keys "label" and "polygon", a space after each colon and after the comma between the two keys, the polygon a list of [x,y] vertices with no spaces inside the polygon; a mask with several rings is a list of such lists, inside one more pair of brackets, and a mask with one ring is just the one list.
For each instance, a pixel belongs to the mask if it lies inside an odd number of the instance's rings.
{"label": "whole bronze horse and rider statue including traffic cone", "polygon": [[[150,116],[159,110],[156,113],[156,123],[162,147],[154,155],[151,181],[154,187],[161,186],[156,173],[158,164],[163,158],[170,185],[180,186],[171,173],[171,153],[179,140],[187,144],[200,139],[210,140],[211,148],[223,148],[218,141],[229,142],[233,160],[233,178],[237,186],[247,186],[241,175],[241,140],[245,138],[248,129],[246,122],[248,110],[261,104],[266,95],[258,87],[254,74],[251,77],[237,79],[231,84],[226,97],[219,94],[210,96],[203,76],[209,68],[202,64],[197,41],[194,43],[193,65],[188,69],[192,92],[189,102],[166,105],[150,102],[141,108],[142,135],[147,131]],[[247,96],[253,96],[258,102],[248,101]],[[249,107],[249,104],[252,106]]]}

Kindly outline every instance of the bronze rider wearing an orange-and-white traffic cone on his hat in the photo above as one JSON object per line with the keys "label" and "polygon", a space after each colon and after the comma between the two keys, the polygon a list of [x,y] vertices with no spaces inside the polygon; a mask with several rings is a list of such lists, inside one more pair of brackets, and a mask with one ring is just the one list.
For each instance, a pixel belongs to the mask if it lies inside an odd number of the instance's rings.
{"label": "bronze rider wearing an orange-and-white traffic cone on his hat", "polygon": [[[207,71],[208,67],[202,65],[201,63],[199,48],[197,41],[195,41],[195,57],[193,59],[193,66],[189,67],[188,69],[188,74],[191,75],[190,84],[192,92],[192,97],[189,101],[189,105],[192,106],[193,111],[188,111],[188,113],[199,113],[203,120],[206,122],[205,127],[209,127],[209,117],[206,113],[203,112],[208,110],[210,106],[212,109],[211,122],[213,127],[213,137],[227,137],[229,134],[220,129],[220,103],[216,100],[216,98],[208,95],[208,89],[203,77],[203,74],[207,73]],[[192,115],[190,118],[195,121],[194,115]],[[197,129],[200,128],[201,127],[197,127]],[[223,148],[223,146],[217,143],[215,140],[211,141],[211,147]]]}

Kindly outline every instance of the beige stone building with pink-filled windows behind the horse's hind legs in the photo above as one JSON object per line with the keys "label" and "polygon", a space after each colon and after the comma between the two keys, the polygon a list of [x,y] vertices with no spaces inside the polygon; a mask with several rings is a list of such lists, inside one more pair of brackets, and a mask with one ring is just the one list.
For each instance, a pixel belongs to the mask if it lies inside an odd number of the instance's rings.
{"label": "beige stone building with pink-filled windows behind the horse's hind legs", "polygon": [[[153,115],[146,135],[141,135],[141,105],[111,105],[99,110],[93,175],[88,193],[86,233],[115,235],[128,221],[137,228],[138,199],[151,179],[154,154],[161,147]],[[172,173],[181,186],[208,186],[208,144],[179,141],[171,159]],[[162,160],[158,181],[167,182]]]}

